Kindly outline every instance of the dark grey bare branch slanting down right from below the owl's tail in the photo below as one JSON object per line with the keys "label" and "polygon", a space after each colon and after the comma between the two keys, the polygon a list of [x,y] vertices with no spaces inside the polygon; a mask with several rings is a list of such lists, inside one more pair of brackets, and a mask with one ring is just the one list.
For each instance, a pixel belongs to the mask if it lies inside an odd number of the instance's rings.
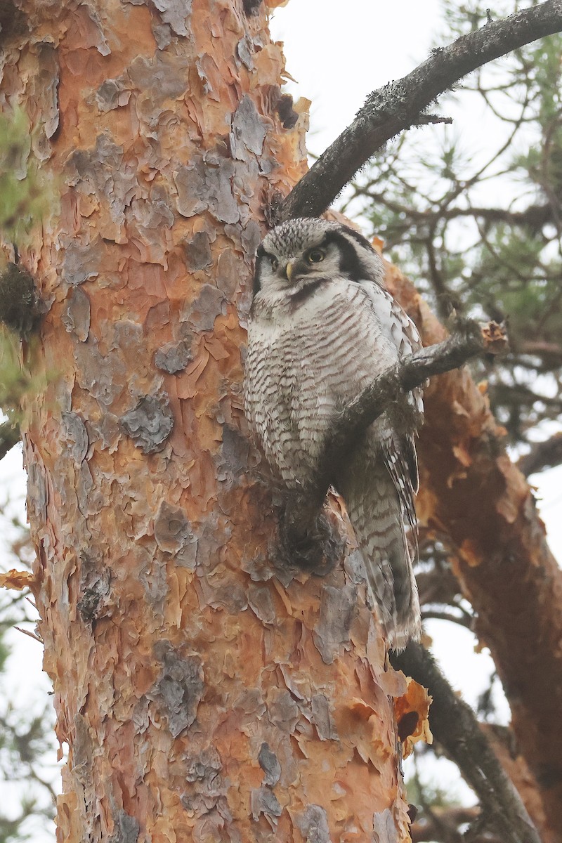
{"label": "dark grey bare branch slanting down right from below the owl's tail", "polygon": [[409,642],[401,653],[390,653],[393,668],[402,670],[429,691],[431,732],[447,757],[479,797],[486,823],[505,843],[540,843],[519,794],[495,757],[474,711],[460,700],[420,644]]}

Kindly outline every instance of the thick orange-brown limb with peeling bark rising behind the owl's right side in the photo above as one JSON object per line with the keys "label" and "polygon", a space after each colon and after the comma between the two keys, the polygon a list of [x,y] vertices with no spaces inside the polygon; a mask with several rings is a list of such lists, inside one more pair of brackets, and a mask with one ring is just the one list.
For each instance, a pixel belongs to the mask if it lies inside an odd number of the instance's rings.
{"label": "thick orange-brown limb with peeling bark rising behind the owl's right side", "polygon": [[[446,331],[394,267],[388,285],[415,319],[425,343]],[[420,431],[422,524],[448,534],[456,573],[477,612],[511,706],[512,726],[562,834],[562,572],[549,550],[533,491],[505,450],[485,384],[467,369],[431,380]]]}

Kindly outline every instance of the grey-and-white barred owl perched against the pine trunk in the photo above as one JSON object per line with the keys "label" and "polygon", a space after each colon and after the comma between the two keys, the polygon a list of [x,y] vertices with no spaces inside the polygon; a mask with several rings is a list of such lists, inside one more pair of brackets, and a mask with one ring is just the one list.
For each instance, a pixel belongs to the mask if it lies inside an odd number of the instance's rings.
{"label": "grey-and-white barred owl perched against the pine trunk", "polygon": [[[383,275],[367,239],[340,223],[292,219],[260,244],[244,411],[288,490],[313,487],[340,411],[401,355],[421,347]],[[415,533],[414,435],[422,409],[420,390],[404,395],[357,438],[330,478],[345,501],[368,588],[395,649],[420,636],[405,527]]]}

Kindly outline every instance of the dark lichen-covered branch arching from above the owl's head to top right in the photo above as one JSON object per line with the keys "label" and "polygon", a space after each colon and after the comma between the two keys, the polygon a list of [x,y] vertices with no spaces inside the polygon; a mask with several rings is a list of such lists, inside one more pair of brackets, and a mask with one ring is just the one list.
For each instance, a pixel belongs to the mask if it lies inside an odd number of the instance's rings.
{"label": "dark lichen-covered branch arching from above the owl's head to top right", "polygon": [[318,217],[377,149],[423,120],[424,110],[459,79],[530,41],[561,30],[562,0],[546,0],[432,51],[407,76],[369,95],[351,126],[281,203],[280,220]]}

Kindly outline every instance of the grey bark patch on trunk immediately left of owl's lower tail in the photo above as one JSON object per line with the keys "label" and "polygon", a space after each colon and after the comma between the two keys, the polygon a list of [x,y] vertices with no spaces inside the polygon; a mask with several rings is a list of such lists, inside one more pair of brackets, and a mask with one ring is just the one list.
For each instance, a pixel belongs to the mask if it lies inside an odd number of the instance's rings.
{"label": "grey bark patch on trunk immediately left of owl's lower tail", "polygon": [[356,612],[356,605],[356,586],[334,588],[325,585],[322,588],[320,617],[314,626],[313,640],[325,664],[333,663],[341,644],[350,640],[351,621]]}

